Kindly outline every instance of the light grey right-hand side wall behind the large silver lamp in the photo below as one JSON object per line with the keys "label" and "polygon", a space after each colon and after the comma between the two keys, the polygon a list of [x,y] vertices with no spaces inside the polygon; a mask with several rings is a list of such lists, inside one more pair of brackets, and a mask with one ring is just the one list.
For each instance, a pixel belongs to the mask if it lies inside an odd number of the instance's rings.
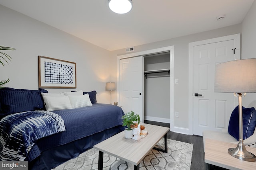
{"label": "light grey right-hand side wall behind the large silver lamp", "polygon": [[[242,59],[256,58],[256,1],[253,2],[249,12],[242,22]],[[247,93],[242,99],[242,105],[247,107],[251,101],[256,100],[255,93]]]}

